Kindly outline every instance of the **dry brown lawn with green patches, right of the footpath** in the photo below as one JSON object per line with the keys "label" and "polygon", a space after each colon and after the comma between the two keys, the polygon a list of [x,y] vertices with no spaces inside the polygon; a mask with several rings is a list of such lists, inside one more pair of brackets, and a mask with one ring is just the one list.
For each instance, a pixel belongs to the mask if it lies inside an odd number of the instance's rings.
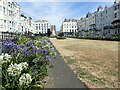
{"label": "dry brown lawn with green patches, right of the footpath", "polygon": [[50,40],[78,78],[89,88],[118,87],[118,42]]}

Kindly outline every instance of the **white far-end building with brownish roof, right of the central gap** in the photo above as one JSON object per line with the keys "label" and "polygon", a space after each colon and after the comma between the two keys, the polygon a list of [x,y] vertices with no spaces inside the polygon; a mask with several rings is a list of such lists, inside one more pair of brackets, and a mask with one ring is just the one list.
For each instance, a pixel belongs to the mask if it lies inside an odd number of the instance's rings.
{"label": "white far-end building with brownish roof, right of the central gap", "polygon": [[65,19],[62,23],[62,32],[66,34],[77,32],[77,21],[76,19]]}

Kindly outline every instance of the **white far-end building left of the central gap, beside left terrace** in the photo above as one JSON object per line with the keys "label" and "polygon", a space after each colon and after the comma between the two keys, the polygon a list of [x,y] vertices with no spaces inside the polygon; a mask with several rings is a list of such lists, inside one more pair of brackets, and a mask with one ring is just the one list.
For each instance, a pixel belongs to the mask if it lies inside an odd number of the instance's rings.
{"label": "white far-end building left of the central gap, beside left terrace", "polygon": [[47,20],[37,20],[35,21],[35,33],[46,34],[47,30],[50,29],[50,24]]}

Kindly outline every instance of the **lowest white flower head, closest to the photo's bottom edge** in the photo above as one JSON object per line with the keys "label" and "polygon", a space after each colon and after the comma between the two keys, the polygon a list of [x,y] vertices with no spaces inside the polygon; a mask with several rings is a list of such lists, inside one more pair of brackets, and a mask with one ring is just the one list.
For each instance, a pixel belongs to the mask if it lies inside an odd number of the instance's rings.
{"label": "lowest white flower head, closest to the photo's bottom edge", "polygon": [[32,82],[32,78],[30,76],[30,74],[23,74],[20,78],[19,78],[19,84],[20,85],[28,85]]}

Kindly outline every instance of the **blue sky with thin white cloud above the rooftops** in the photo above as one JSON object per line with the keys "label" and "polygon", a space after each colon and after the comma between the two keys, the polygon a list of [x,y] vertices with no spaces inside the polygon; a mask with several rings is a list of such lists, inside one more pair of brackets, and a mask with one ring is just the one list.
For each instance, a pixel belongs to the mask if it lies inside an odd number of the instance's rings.
{"label": "blue sky with thin white cloud above the rooftops", "polygon": [[48,20],[60,30],[64,19],[80,19],[98,6],[111,6],[113,2],[18,2],[21,13],[33,20]]}

